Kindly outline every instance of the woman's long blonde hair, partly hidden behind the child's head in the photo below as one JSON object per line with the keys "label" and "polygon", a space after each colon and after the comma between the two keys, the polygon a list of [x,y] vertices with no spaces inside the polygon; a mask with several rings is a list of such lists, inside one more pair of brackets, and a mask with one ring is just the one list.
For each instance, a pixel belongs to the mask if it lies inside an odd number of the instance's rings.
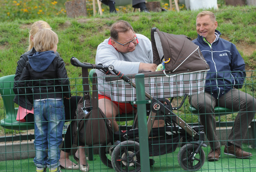
{"label": "woman's long blonde hair, partly hidden behind the child's head", "polygon": [[35,23],[32,24],[31,30],[29,31],[29,47],[27,48],[27,51],[34,47],[34,42],[32,41],[31,36],[34,37],[39,30],[44,28],[51,29],[50,25],[42,20],[36,21]]}

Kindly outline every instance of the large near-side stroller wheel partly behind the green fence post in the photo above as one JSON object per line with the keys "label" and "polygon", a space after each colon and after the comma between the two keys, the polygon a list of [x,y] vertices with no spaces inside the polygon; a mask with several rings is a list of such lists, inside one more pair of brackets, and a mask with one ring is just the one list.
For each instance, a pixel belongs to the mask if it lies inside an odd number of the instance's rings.
{"label": "large near-side stroller wheel partly behind the green fence post", "polygon": [[131,140],[121,142],[114,148],[111,162],[117,172],[140,172],[139,143]]}

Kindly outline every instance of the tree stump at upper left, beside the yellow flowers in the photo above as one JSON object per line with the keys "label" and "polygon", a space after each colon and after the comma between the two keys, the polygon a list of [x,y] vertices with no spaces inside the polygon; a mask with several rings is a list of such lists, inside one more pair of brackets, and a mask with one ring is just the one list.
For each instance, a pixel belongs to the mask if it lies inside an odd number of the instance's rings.
{"label": "tree stump at upper left, beside the yellow flowers", "polygon": [[87,16],[86,0],[73,0],[65,3],[67,17]]}

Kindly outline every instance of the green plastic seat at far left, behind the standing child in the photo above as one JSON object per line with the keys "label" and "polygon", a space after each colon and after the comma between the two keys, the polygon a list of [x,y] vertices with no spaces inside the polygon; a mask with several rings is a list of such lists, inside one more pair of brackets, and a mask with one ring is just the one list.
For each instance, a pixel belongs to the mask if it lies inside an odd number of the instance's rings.
{"label": "green plastic seat at far left, behind the standing child", "polygon": [[7,75],[0,77],[0,94],[3,99],[4,116],[0,121],[3,128],[11,130],[30,130],[34,129],[34,123],[16,121],[18,108],[14,107],[13,83],[15,75]]}

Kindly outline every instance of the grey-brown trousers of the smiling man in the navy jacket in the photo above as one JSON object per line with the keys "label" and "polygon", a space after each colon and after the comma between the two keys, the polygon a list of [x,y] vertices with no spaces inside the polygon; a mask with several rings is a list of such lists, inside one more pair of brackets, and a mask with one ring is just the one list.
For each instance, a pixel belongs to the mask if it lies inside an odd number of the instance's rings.
{"label": "grey-brown trousers of the smiling man in the navy jacket", "polygon": [[204,126],[204,132],[212,149],[221,146],[216,134],[214,108],[219,106],[239,111],[228,141],[234,145],[242,146],[242,141],[256,112],[256,99],[253,96],[238,89],[231,89],[219,99],[215,99],[211,94],[205,92],[191,96],[190,104],[198,109],[200,123]]}

